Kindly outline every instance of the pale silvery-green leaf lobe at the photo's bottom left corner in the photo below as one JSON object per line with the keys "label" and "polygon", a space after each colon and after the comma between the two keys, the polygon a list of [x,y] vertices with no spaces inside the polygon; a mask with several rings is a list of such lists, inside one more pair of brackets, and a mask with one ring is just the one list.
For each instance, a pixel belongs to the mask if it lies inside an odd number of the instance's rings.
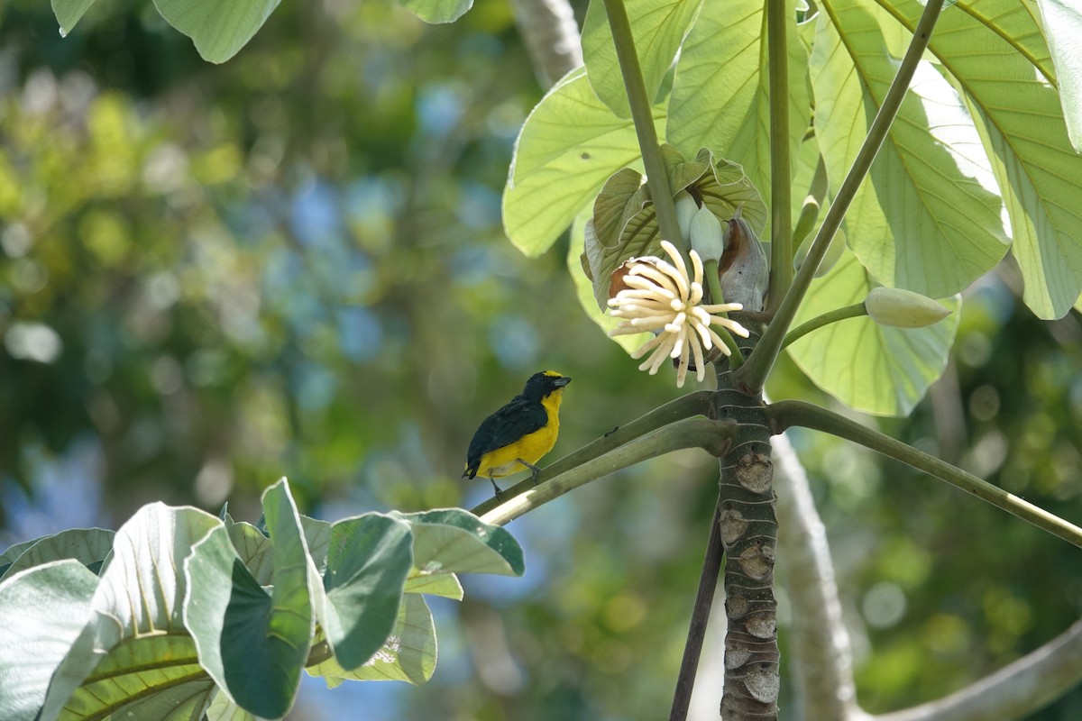
{"label": "pale silvery-green leaf lobe at the photo's bottom left corner", "polygon": [[49,680],[82,631],[97,576],[67,559],[0,584],[0,719],[31,721]]}

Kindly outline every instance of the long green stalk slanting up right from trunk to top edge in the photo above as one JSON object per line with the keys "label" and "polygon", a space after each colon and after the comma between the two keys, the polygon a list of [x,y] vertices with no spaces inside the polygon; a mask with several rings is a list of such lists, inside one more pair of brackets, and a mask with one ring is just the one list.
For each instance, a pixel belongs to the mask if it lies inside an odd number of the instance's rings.
{"label": "long green stalk slanting up right from trunk to top edge", "polygon": [[786,333],[789,331],[789,326],[796,316],[796,309],[804,299],[804,295],[812,284],[812,279],[815,277],[816,270],[819,269],[819,264],[822,263],[822,258],[827,254],[831,239],[842,225],[842,218],[845,217],[846,211],[849,210],[849,204],[857,193],[857,188],[860,187],[860,183],[868,175],[872,161],[886,139],[887,133],[890,131],[890,124],[898,115],[901,101],[906,97],[906,91],[909,89],[909,83],[916,71],[916,65],[924,54],[924,50],[928,46],[928,40],[932,38],[932,29],[939,18],[939,11],[942,10],[942,5],[944,0],[928,0],[928,3],[924,6],[921,19],[913,31],[913,39],[910,41],[906,56],[898,67],[898,74],[894,77],[894,82],[890,83],[890,89],[887,91],[886,97],[883,98],[883,105],[880,106],[871,128],[868,129],[868,137],[865,138],[865,144],[860,147],[860,151],[853,162],[853,168],[849,169],[849,173],[845,176],[842,187],[839,188],[837,196],[834,197],[830,210],[827,212],[827,217],[823,218],[822,226],[820,226],[819,232],[816,235],[815,241],[808,250],[808,255],[804,259],[804,264],[793,277],[793,283],[786,292],[778,311],[775,313],[769,326],[767,326],[766,332],[763,333],[758,345],[755,346],[755,352],[751,355],[751,358],[748,359],[748,362],[740,368],[740,371],[735,376],[738,387],[743,392],[757,392],[762,390],[766,376],[769,375],[770,369],[774,368],[774,362],[778,359],[778,353],[781,351]]}

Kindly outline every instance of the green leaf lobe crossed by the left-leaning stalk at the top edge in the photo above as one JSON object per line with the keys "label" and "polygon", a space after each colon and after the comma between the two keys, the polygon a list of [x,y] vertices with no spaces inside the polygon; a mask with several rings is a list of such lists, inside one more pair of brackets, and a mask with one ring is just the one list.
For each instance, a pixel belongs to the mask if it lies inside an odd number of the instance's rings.
{"label": "green leaf lobe crossed by the left-leaning stalk at the top edge", "polygon": [[[647,97],[657,96],[701,4],[702,0],[628,0],[624,3]],[[620,118],[630,118],[631,105],[604,0],[591,0],[586,9],[586,17],[582,21],[582,58],[597,97]]]}

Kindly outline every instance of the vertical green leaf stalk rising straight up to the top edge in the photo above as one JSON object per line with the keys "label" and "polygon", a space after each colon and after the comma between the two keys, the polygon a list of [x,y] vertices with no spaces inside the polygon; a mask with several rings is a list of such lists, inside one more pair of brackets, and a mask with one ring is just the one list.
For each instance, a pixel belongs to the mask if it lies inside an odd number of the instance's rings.
{"label": "vertical green leaf stalk rising straight up to the top edge", "polygon": [[766,0],[770,83],[770,286],[767,312],[793,282],[792,177],[789,160],[789,18],[787,0]]}

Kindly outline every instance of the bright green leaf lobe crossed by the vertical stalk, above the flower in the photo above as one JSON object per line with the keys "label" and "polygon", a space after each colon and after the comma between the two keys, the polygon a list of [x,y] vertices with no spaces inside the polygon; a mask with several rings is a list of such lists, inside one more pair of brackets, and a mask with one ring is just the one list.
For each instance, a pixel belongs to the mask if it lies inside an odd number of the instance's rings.
{"label": "bright green leaf lobe crossed by the vertical stalk, above the flower", "polygon": [[[807,54],[790,3],[791,156],[810,122]],[[770,95],[762,0],[707,0],[676,64],[665,137],[685,156],[699,148],[743,165],[769,203]],[[762,231],[761,231],[762,235]]]}

